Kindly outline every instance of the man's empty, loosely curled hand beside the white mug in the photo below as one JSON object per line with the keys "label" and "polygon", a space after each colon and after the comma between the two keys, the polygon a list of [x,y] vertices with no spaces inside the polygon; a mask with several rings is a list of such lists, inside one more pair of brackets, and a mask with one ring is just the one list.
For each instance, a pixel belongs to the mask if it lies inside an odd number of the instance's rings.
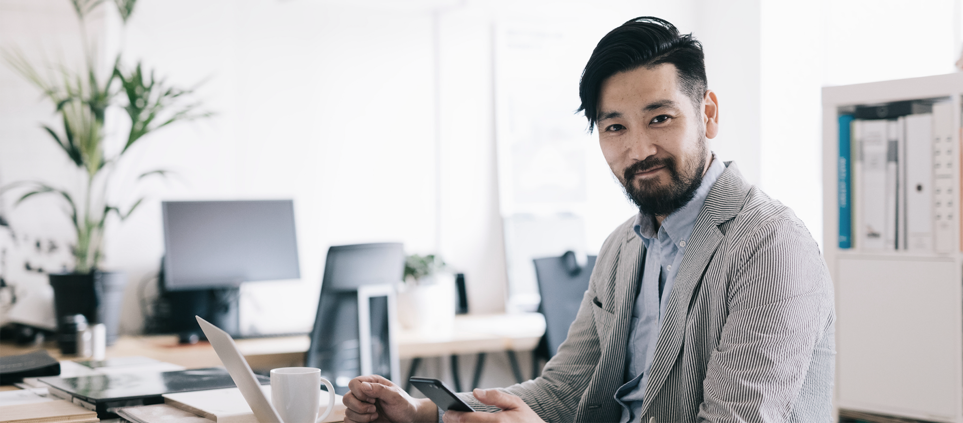
{"label": "man's empty, loosely curled hand beside the white mug", "polygon": [[428,399],[411,398],[395,383],[377,375],[358,376],[348,383],[345,423],[435,423],[438,408]]}

